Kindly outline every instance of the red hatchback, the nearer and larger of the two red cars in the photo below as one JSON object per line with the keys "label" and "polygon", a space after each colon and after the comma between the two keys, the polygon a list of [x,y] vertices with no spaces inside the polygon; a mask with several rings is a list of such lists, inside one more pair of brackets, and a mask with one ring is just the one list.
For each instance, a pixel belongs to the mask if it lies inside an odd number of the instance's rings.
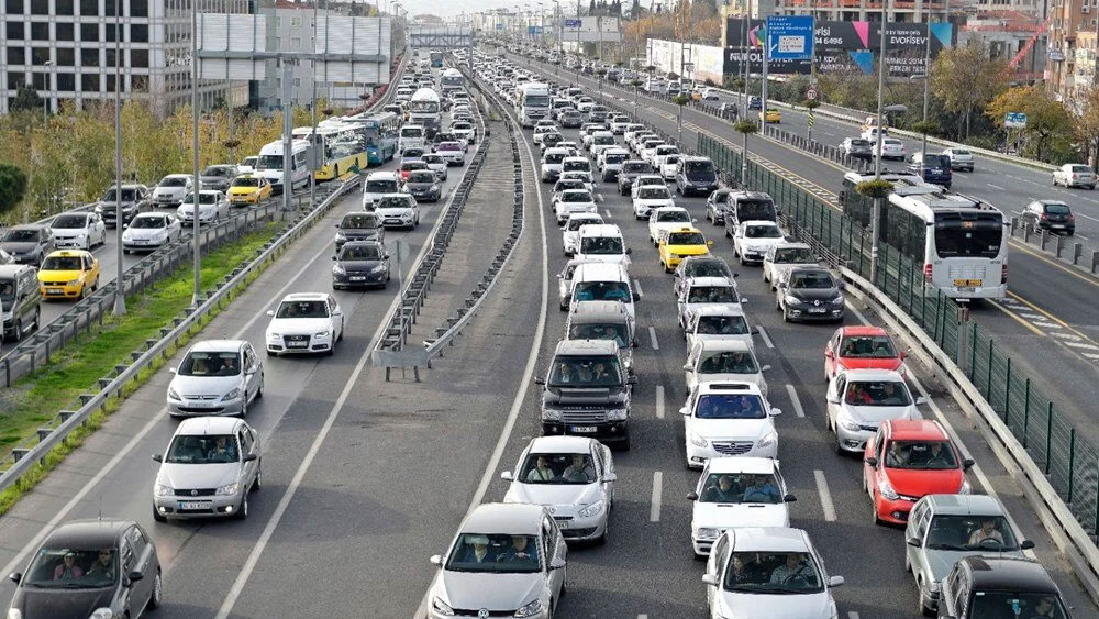
{"label": "red hatchback, the nearer and larger of the two red cars", "polygon": [[967,495],[962,460],[937,421],[893,419],[866,441],[863,486],[874,504],[875,524],[904,524],[908,512],[924,495]]}

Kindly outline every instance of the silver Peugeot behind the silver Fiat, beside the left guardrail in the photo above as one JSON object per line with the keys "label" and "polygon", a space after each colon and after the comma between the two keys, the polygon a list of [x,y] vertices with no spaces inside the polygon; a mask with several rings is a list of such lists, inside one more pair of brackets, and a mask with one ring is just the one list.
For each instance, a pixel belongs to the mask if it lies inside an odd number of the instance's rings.
{"label": "silver Peugeot behind the silver Fiat, beside the left guardrail", "polygon": [[264,396],[264,363],[244,340],[199,342],[187,352],[168,384],[168,414],[248,414]]}

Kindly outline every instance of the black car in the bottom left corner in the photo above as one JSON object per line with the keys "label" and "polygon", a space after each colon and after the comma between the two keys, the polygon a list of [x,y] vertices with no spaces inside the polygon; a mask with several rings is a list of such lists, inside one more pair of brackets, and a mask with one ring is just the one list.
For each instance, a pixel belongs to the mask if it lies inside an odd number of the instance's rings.
{"label": "black car in the bottom left corner", "polygon": [[160,606],[164,593],[156,546],[127,520],[62,524],[11,579],[8,617],[22,619],[137,617]]}

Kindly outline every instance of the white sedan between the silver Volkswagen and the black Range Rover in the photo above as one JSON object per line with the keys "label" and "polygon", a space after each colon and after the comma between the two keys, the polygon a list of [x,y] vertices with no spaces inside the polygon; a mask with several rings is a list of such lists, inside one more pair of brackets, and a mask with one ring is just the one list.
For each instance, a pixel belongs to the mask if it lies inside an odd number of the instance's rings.
{"label": "white sedan between the silver Volkswagen and the black Range Rover", "polygon": [[610,447],[596,439],[534,439],[500,478],[511,482],[503,502],[545,506],[566,540],[607,541],[617,476]]}

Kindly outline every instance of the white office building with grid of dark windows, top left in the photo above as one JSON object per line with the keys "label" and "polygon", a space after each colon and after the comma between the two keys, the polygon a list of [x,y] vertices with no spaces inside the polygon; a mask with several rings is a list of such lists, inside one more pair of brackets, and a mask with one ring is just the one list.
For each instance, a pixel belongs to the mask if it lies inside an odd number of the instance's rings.
{"label": "white office building with grid of dark windows, top left", "polygon": [[[158,115],[191,100],[188,0],[118,0],[122,9],[122,91]],[[248,0],[199,0],[199,10],[248,13]],[[3,0],[0,113],[23,84],[49,110],[114,99],[115,0]],[[248,102],[247,82],[202,80],[200,106]]]}

